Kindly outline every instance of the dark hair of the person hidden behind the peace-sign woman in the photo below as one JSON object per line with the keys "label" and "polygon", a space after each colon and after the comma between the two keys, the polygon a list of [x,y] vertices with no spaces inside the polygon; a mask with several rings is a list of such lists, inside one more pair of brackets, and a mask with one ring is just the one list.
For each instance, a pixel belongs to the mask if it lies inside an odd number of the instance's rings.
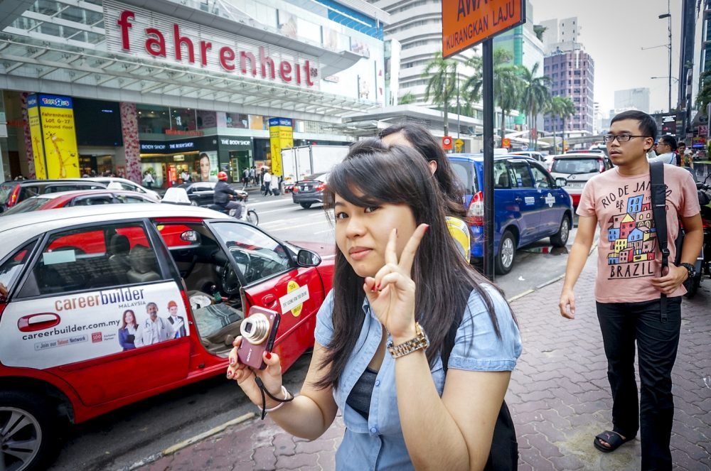
{"label": "dark hair of the person hidden behind the peace-sign woman", "polygon": [[432,136],[429,130],[417,123],[394,124],[380,131],[378,136],[383,139],[391,134],[401,133],[405,136],[412,147],[415,148],[428,162],[434,161],[437,163],[437,171],[434,172],[434,178],[439,184],[439,189],[444,195],[444,204],[447,205],[447,215],[464,219],[466,217],[466,209],[464,208],[464,189],[459,185],[459,180],[456,179],[451,170],[449,158],[442,150],[442,146],[437,142],[437,139]]}

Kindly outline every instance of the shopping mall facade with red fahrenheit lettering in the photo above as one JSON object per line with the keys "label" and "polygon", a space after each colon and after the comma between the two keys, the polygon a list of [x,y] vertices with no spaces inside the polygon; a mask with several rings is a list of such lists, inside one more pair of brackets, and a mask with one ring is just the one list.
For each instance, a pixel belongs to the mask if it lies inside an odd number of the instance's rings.
{"label": "shopping mall facade with red fahrenheit lettering", "polygon": [[9,3],[0,179],[53,178],[38,167],[58,158],[164,186],[278,173],[279,146],[347,143],[333,124],[385,104],[389,15],[363,0]]}

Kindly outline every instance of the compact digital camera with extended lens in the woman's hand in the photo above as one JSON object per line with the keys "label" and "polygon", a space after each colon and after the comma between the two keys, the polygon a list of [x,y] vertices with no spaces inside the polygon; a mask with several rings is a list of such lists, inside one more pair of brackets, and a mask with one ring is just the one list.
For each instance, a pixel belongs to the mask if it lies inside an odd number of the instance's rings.
{"label": "compact digital camera with extended lens in the woman's hand", "polygon": [[272,351],[280,319],[281,316],[275,310],[259,306],[250,308],[250,315],[242,320],[242,325],[240,325],[242,343],[237,350],[240,362],[255,369],[267,367],[262,355],[264,352]]}

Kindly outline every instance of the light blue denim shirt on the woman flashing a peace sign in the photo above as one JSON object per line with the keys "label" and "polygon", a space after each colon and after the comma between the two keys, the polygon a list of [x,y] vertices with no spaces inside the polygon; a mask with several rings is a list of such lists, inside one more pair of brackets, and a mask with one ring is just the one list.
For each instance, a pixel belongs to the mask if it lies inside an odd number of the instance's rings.
{"label": "light blue denim shirt on the woman flashing a peace sign", "polygon": [[[496,311],[501,338],[496,337],[486,305],[479,294],[472,291],[464,318],[456,332],[448,367],[471,371],[512,371],[521,353],[518,327],[501,294],[491,286],[484,285],[484,288]],[[358,341],[341,374],[338,387],[333,389],[333,398],[346,424],[346,433],[336,453],[336,470],[412,470],[414,468],[407,454],[397,411],[395,359],[390,354],[385,354],[375,379],[368,420],[346,404],[348,394],[351,394],[353,385],[373,359],[382,339],[383,327],[370,309],[367,298],[362,309],[365,319]],[[332,314],[331,291],[316,317],[316,341],[326,347],[333,337]],[[437,359],[432,369],[432,379],[439,396],[442,396],[444,369],[441,358]]]}

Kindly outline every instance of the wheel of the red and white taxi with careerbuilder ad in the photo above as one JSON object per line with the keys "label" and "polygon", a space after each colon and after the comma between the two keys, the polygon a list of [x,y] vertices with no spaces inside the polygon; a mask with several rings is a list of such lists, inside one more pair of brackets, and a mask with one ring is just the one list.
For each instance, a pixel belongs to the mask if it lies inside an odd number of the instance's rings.
{"label": "wheel of the red and white taxi with careerbuilder ad", "polygon": [[59,451],[63,423],[39,396],[0,392],[0,460],[4,469],[46,470]]}

